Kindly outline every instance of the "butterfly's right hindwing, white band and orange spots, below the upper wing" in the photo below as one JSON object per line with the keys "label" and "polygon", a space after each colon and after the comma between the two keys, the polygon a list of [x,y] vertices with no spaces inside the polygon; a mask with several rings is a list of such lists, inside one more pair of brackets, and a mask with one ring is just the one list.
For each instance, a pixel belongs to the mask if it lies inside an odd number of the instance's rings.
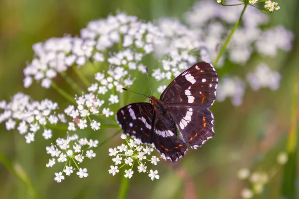
{"label": "butterfly's right hindwing, white band and orange spots, below the upper wing", "polygon": [[214,116],[206,108],[169,107],[182,137],[192,148],[201,147],[214,136]]}

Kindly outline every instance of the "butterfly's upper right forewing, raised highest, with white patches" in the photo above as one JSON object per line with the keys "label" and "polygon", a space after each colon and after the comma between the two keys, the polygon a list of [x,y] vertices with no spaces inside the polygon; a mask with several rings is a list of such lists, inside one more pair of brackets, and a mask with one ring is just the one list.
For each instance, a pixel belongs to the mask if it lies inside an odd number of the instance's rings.
{"label": "butterfly's upper right forewing, raised highest, with white patches", "polygon": [[206,62],[198,62],[177,76],[164,90],[160,100],[168,105],[179,104],[208,108],[216,99],[218,74]]}

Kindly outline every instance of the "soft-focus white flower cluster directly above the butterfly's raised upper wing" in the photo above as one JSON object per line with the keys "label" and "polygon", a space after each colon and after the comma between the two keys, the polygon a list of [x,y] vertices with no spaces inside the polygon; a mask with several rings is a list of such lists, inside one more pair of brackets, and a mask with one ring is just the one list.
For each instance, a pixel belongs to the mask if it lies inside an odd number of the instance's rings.
{"label": "soft-focus white flower cluster directly above the butterfly's raised upper wing", "polygon": [[155,51],[156,56],[163,56],[162,67],[153,70],[152,73],[157,81],[175,78],[196,63],[198,55],[202,61],[210,61],[205,44],[198,39],[195,32],[177,19],[162,18],[158,21],[158,26],[165,39]]}

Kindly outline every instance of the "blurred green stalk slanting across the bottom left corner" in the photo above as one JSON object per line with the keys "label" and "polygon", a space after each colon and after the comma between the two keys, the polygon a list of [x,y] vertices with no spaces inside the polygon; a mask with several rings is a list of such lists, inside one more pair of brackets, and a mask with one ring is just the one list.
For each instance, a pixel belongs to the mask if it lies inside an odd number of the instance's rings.
{"label": "blurred green stalk slanting across the bottom left corner", "polygon": [[0,152],[0,162],[6,167],[6,169],[14,175],[17,180],[23,183],[30,194],[30,196],[34,199],[39,199],[39,195],[37,194],[34,186],[32,185],[30,178],[25,173],[25,171],[19,166],[16,165],[15,167],[10,163],[10,161]]}

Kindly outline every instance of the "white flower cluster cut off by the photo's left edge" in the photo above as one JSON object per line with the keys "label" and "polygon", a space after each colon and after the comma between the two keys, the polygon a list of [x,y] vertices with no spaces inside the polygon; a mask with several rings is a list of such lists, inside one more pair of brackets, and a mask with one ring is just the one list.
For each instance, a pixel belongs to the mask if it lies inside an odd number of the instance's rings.
{"label": "white flower cluster cut off by the photo's left edge", "polygon": [[51,100],[45,99],[42,101],[30,100],[30,97],[17,93],[13,96],[10,102],[0,101],[0,123],[5,122],[6,129],[17,129],[23,135],[27,143],[34,141],[35,133],[43,127],[43,137],[49,139],[52,137],[52,131],[47,127],[47,124],[56,125],[58,121],[65,123],[64,114],[57,114],[55,110],[58,104]]}

